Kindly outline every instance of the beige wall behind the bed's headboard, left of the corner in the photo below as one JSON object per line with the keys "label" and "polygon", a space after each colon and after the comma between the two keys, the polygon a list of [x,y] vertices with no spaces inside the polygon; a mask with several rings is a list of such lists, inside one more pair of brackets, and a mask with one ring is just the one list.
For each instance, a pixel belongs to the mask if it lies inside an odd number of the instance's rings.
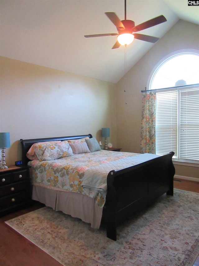
{"label": "beige wall behind the bed's headboard, left of the corner", "polygon": [[7,165],[21,160],[20,138],[91,133],[110,128],[116,145],[115,84],[0,57],[0,132],[10,132]]}

